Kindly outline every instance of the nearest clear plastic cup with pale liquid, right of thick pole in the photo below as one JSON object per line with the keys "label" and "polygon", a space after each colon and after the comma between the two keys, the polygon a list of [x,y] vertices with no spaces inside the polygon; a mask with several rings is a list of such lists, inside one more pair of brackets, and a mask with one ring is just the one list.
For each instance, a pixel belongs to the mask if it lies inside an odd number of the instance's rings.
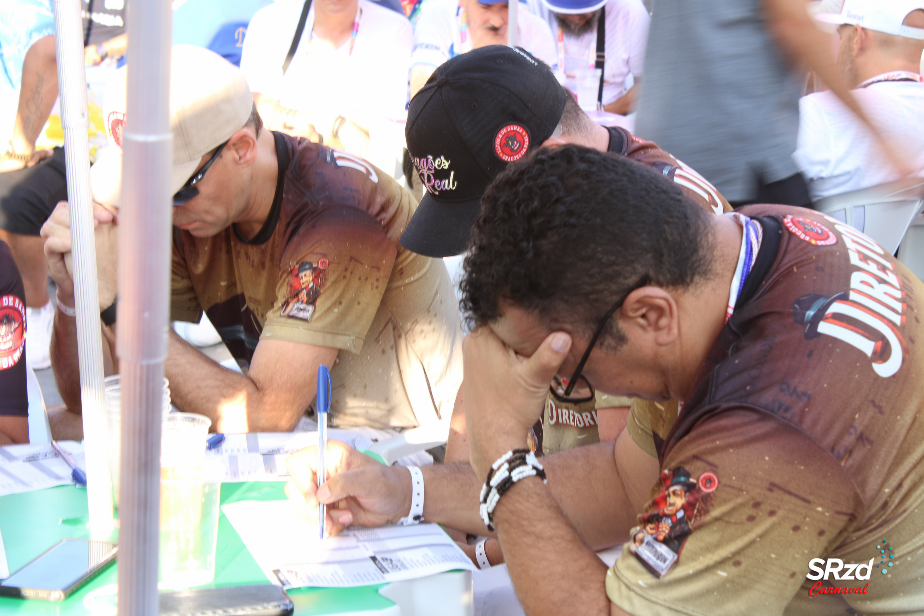
{"label": "nearest clear plastic cup with pale liquid, right of thick pole", "polygon": [[205,460],[212,421],[193,413],[164,420],[161,441],[161,586],[188,588],[215,576],[221,469]]}

